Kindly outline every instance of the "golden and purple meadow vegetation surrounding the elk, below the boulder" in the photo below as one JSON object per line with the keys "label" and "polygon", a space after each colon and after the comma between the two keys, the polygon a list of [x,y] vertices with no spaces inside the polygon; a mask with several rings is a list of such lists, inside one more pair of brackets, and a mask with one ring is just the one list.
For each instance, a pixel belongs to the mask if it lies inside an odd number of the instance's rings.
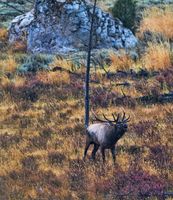
{"label": "golden and purple meadow vegetation surrounding the elk, below the boulder", "polygon": [[[0,30],[2,44],[6,34]],[[72,61],[58,56],[2,45],[0,200],[162,199],[173,191],[173,104],[159,101],[173,90],[170,46],[170,40],[150,41],[135,61],[124,52],[110,54],[104,69],[91,70],[92,109],[131,116],[114,166],[109,152],[105,165],[100,153],[95,163],[82,160],[84,66],[74,70]],[[23,68],[31,70],[21,73]]]}

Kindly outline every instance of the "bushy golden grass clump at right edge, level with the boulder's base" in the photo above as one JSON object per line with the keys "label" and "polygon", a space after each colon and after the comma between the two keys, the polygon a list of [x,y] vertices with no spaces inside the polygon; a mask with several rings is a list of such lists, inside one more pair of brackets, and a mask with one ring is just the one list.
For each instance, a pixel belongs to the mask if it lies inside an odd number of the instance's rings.
{"label": "bushy golden grass clump at right edge, level with the boulder's base", "polygon": [[149,43],[142,57],[143,66],[148,70],[166,69],[171,66],[171,50],[168,43]]}

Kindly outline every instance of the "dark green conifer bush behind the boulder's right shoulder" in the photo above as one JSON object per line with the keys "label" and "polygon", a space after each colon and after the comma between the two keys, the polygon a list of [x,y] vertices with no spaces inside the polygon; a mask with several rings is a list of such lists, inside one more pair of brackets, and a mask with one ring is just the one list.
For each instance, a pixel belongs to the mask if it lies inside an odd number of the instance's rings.
{"label": "dark green conifer bush behind the boulder's right shoulder", "polygon": [[136,0],[117,0],[112,9],[114,17],[119,18],[125,27],[135,31]]}

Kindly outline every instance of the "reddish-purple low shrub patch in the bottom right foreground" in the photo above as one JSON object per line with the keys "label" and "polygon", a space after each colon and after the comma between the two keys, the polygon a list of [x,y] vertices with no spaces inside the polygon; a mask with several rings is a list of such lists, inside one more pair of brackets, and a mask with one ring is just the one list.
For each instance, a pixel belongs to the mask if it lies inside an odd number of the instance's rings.
{"label": "reddish-purple low shrub patch in the bottom right foreground", "polygon": [[113,193],[120,197],[147,198],[162,197],[166,184],[161,178],[150,175],[139,169],[130,169],[128,172],[116,172],[112,179],[96,183],[96,191],[105,194]]}

